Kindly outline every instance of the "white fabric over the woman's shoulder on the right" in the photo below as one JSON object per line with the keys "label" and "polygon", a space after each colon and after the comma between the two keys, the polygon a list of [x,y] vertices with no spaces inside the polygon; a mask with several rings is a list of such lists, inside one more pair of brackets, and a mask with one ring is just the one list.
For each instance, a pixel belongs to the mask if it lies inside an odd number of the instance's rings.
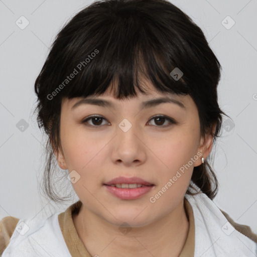
{"label": "white fabric over the woman's shoulder on the right", "polygon": [[[197,191],[200,191],[199,187],[192,184]],[[197,191],[191,190],[191,192]],[[197,195],[185,195],[185,197],[192,206],[194,214],[194,257],[257,256],[257,243],[235,230],[206,194],[200,192]]]}

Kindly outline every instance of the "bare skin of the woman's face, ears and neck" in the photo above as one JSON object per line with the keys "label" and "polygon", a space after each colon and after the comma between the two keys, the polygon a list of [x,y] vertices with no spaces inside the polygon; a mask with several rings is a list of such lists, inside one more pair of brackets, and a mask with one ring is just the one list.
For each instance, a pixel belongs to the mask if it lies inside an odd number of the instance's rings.
{"label": "bare skin of the woman's face, ears and neck", "polygon": [[[142,101],[167,95],[181,101],[185,108],[175,103],[140,108]],[[197,106],[188,95],[162,94],[151,84],[147,95],[138,91],[138,97],[119,100],[107,91],[97,98],[109,100],[116,107],[84,104],[71,110],[82,98],[63,99],[61,149],[55,153],[62,169],[80,175],[72,184],[82,202],[79,213],[73,216],[79,237],[92,256],[179,256],[189,229],[184,195],[193,167],[201,165],[201,157],[209,155],[213,142],[210,135],[205,141],[200,136]],[[103,116],[102,121],[82,123],[93,114]],[[168,119],[158,123],[152,118],[157,114],[177,123]],[[118,126],[124,118],[132,124],[127,132]],[[200,156],[193,165],[151,203],[150,197],[197,153]],[[121,200],[103,187],[104,182],[121,175],[137,176],[155,186],[138,199]],[[126,234],[119,229],[123,222],[131,229]]]}

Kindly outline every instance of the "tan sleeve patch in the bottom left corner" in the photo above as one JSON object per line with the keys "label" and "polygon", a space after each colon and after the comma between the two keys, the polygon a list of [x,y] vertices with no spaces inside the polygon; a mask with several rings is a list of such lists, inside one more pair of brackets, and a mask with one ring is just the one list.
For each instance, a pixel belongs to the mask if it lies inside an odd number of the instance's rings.
{"label": "tan sleeve patch in the bottom left corner", "polygon": [[7,216],[0,220],[0,256],[9,244],[18,221],[18,218],[12,216]]}

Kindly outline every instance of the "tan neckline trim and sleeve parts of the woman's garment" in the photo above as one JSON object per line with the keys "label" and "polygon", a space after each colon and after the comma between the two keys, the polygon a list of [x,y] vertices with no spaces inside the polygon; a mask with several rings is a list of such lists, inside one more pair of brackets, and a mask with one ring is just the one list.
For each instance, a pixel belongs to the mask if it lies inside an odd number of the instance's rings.
{"label": "tan neckline trim and sleeve parts of the woman's garment", "polygon": [[[78,236],[77,230],[74,226],[72,220],[72,213],[78,212],[81,206],[81,201],[78,201],[71,206],[69,206],[65,212],[62,212],[58,215],[59,225],[66,242],[66,245],[72,256],[76,257],[92,257],[86,250],[83,242]],[[179,255],[179,257],[193,257],[194,248],[195,248],[195,224],[194,224],[194,215],[193,210],[186,198],[184,198],[184,206],[189,220],[189,231],[188,236],[185,242],[185,245]],[[240,233],[249,237],[254,242],[257,242],[257,235],[254,234],[249,226],[241,225],[235,223],[229,215],[222,211],[224,216],[230,222],[230,224],[238,230]],[[18,218],[7,216],[0,221],[0,256],[10,242],[10,238],[15,230],[17,223],[19,222]]]}

